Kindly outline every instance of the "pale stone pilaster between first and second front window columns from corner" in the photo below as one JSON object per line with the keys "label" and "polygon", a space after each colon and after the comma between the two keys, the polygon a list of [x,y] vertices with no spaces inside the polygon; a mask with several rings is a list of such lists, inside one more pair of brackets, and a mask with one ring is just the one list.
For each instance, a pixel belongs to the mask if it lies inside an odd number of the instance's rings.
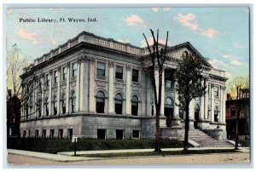
{"label": "pale stone pilaster between first and second front window columns from corner", "polygon": [[113,102],[113,61],[109,61],[109,82],[108,82],[108,113],[114,113],[114,102]]}

